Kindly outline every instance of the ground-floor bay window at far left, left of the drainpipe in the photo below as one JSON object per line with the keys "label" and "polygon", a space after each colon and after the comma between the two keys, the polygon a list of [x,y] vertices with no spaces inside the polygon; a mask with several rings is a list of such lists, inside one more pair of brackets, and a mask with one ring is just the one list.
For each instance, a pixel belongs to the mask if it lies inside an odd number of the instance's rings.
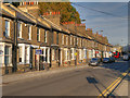
{"label": "ground-floor bay window at far left, left of the drainpipe", "polygon": [[5,50],[4,50],[4,64],[8,65],[11,63],[11,48],[9,46],[5,46]]}

